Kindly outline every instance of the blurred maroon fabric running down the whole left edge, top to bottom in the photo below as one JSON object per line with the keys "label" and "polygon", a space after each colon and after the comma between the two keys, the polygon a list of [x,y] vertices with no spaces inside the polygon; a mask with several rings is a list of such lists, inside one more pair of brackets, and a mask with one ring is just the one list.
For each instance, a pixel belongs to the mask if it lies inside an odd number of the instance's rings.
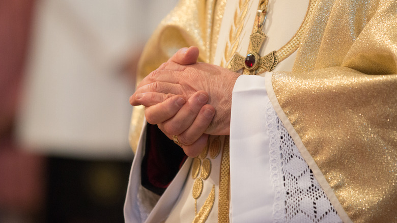
{"label": "blurred maroon fabric running down the whole left edge, top to bottom", "polygon": [[45,158],[23,152],[13,129],[35,2],[0,1],[0,215],[4,216],[35,214],[45,201]]}

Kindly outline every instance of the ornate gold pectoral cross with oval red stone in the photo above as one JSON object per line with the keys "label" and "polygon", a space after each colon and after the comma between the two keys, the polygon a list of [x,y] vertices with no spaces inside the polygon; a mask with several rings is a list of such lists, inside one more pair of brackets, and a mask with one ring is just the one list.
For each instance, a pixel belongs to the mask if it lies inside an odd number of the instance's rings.
{"label": "ornate gold pectoral cross with oval red stone", "polygon": [[262,31],[262,26],[266,20],[267,2],[268,1],[264,1],[261,4],[263,6],[260,6],[260,10],[258,10],[257,29],[256,32],[249,37],[248,53],[246,57],[236,52],[229,63],[228,68],[230,70],[236,72],[244,68],[244,74],[257,74],[258,69],[272,71],[278,64],[276,51],[270,52],[265,57],[261,57],[259,54],[262,44],[266,39],[266,35]]}

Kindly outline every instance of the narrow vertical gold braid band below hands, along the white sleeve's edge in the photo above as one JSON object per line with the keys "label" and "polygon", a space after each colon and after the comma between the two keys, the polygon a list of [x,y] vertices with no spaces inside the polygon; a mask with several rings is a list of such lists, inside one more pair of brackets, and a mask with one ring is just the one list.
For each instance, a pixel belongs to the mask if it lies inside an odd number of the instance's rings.
{"label": "narrow vertical gold braid band below hands, along the white sleeve's edge", "polygon": [[218,222],[229,223],[229,188],[230,188],[229,135],[226,135],[224,138],[222,161],[220,164]]}

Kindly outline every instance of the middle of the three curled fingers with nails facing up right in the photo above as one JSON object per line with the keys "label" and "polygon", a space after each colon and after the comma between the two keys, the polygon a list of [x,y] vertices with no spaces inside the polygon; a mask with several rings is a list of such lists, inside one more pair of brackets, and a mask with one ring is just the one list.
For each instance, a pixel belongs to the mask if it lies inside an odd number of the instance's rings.
{"label": "middle of the three curled fingers with nails facing up right", "polygon": [[[159,124],[159,128],[171,135],[179,135],[192,125],[201,108],[208,102],[208,94],[205,91],[194,93],[178,113],[164,123]],[[204,132],[204,131],[203,131]],[[201,135],[201,134],[200,134]],[[185,142],[186,143],[186,142]]]}

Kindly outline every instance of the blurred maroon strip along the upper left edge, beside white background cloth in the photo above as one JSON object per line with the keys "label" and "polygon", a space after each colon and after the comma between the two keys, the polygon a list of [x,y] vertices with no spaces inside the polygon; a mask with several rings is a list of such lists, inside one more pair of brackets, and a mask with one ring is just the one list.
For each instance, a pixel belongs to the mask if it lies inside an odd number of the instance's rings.
{"label": "blurred maroon strip along the upper left edge, beside white background cloth", "polygon": [[16,114],[33,7],[34,0],[0,1],[0,135]]}

